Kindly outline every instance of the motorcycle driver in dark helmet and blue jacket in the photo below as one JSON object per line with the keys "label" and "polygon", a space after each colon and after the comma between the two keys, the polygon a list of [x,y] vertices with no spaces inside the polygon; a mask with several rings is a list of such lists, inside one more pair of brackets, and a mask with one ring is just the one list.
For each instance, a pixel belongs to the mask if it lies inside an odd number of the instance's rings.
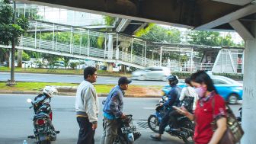
{"label": "motorcycle driver in dark helmet and blue jacket", "polygon": [[165,113],[165,116],[162,117],[162,121],[159,126],[159,133],[155,136],[150,136],[154,140],[161,140],[161,136],[165,131],[165,127],[168,126],[170,120],[170,113],[173,110],[172,106],[177,105],[179,102],[179,96],[181,95],[181,88],[177,86],[178,78],[176,75],[168,76],[169,85],[171,90],[168,92],[168,101],[165,103],[160,103],[160,105],[168,107],[168,111]]}

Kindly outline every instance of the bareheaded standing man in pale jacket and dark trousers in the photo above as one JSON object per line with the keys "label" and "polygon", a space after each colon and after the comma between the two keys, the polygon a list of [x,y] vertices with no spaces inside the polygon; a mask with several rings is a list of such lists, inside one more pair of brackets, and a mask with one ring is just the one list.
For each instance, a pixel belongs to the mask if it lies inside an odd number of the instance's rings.
{"label": "bareheaded standing man in pale jacket and dark trousers", "polygon": [[75,96],[75,111],[80,127],[77,144],[94,144],[94,133],[98,123],[98,96],[94,85],[97,79],[97,69],[84,69],[85,80],[78,86]]}

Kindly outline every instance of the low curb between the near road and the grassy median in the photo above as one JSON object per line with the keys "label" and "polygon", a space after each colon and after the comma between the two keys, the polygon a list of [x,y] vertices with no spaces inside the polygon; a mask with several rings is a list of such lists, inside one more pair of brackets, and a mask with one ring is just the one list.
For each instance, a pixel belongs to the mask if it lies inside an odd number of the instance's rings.
{"label": "low curb between the near road and the grassy median", "polygon": [[[0,94],[42,94],[42,91],[0,91]],[[58,96],[75,96],[73,92],[58,92]],[[98,97],[107,97],[107,94],[98,94]],[[130,94],[125,98],[160,98],[160,95]]]}

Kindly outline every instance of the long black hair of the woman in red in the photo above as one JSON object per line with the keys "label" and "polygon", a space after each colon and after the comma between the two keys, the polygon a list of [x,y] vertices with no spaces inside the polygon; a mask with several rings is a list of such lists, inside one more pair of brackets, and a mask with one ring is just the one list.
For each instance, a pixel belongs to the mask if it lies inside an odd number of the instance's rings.
{"label": "long black hair of the woman in red", "polygon": [[197,82],[199,84],[204,83],[207,86],[207,91],[215,91],[218,94],[218,91],[213,85],[213,80],[210,78],[210,76],[206,72],[204,71],[195,72],[190,76],[190,79],[192,82]]}

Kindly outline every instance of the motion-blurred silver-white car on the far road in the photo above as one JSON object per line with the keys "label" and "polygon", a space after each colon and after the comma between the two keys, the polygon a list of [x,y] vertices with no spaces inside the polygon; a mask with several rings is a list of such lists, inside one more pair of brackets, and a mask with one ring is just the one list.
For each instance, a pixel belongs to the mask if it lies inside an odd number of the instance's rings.
{"label": "motion-blurred silver-white car on the far road", "polygon": [[132,73],[132,78],[137,80],[162,80],[166,81],[171,75],[171,69],[167,67],[149,67]]}

